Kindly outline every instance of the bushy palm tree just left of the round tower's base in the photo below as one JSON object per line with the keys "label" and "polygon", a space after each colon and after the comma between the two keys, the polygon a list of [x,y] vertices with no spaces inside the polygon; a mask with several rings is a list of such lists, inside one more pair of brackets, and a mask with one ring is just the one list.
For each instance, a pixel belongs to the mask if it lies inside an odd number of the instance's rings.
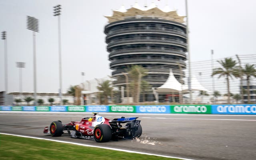
{"label": "bushy palm tree just left of the round tower's base", "polygon": [[105,80],[102,83],[98,82],[97,89],[100,91],[98,96],[100,97],[101,104],[108,105],[108,96],[111,96],[112,93],[112,86],[110,80]]}

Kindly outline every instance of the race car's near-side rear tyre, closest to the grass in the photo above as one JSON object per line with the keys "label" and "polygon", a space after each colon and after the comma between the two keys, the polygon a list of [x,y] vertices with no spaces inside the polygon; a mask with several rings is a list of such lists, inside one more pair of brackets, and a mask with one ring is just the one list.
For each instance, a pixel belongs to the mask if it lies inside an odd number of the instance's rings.
{"label": "race car's near-side rear tyre, closest to the grass", "polygon": [[108,142],[112,138],[112,130],[108,124],[99,124],[94,128],[93,136],[96,142]]}

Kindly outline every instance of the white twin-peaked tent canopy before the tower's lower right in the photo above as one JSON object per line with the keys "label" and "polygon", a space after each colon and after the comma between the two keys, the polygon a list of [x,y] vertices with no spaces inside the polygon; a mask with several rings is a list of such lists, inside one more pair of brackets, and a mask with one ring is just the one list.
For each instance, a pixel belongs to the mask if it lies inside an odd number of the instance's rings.
{"label": "white twin-peaked tent canopy before the tower's lower right", "polygon": [[[188,85],[180,84],[180,82],[178,82],[178,80],[174,77],[172,73],[172,69],[170,69],[170,74],[166,82],[162,86],[156,89],[157,89],[157,92],[181,92],[181,91],[188,92],[189,91]],[[204,86],[202,86],[198,82],[195,76],[192,76],[191,78],[191,90],[203,90],[206,92],[211,92],[206,88],[204,88]]]}

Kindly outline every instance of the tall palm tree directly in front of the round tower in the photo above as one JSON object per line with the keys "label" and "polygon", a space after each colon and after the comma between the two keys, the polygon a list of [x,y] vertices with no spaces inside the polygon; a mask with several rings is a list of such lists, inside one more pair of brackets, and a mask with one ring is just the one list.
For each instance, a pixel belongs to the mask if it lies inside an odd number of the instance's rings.
{"label": "tall palm tree directly in front of the round tower", "polygon": [[134,89],[133,98],[136,103],[140,101],[141,78],[146,76],[147,72],[145,68],[139,65],[132,65],[128,71]]}

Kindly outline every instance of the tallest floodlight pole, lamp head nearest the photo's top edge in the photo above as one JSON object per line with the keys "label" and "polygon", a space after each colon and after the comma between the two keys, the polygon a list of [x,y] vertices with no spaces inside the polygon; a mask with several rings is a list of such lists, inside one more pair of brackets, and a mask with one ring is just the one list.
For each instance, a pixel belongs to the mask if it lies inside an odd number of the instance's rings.
{"label": "tallest floodlight pole, lamp head nearest the photo's top edge", "polygon": [[58,16],[58,41],[59,41],[59,79],[60,79],[60,105],[62,105],[62,68],[61,68],[61,37],[60,37],[60,8],[61,5],[58,4],[57,6],[54,6],[53,8],[53,14],[54,16]]}

